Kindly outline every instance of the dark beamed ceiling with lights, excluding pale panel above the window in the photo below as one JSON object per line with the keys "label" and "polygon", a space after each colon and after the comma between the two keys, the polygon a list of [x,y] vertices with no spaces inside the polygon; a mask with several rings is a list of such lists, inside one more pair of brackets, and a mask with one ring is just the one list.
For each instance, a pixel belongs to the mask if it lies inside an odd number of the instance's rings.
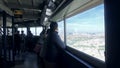
{"label": "dark beamed ceiling with lights, excluding pale panel above the window", "polygon": [[[67,1],[71,0],[0,0],[0,10],[14,16],[15,22],[20,23],[29,20],[43,22],[48,20],[45,16],[48,18],[52,12],[55,13]],[[47,9],[50,9],[51,12],[46,13]]]}

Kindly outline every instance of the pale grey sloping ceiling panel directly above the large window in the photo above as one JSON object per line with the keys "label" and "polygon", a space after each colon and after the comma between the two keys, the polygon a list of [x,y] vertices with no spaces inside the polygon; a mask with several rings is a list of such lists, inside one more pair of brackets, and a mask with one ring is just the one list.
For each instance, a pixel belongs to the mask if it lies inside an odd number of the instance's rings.
{"label": "pale grey sloping ceiling panel directly above the large window", "polygon": [[69,18],[85,10],[93,8],[94,6],[97,6],[101,4],[102,2],[103,0],[73,0],[72,3],[67,5],[67,7],[62,9],[55,16],[53,16],[51,20],[60,21],[63,19],[64,16],[66,18]]}

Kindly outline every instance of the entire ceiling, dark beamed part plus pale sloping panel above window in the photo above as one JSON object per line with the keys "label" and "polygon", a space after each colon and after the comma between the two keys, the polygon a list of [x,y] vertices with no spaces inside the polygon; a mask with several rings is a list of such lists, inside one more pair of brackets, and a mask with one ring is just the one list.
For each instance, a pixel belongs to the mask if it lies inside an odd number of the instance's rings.
{"label": "entire ceiling, dark beamed part plus pale sloping panel above window", "polygon": [[[102,2],[103,0],[0,0],[0,12],[4,10],[14,17],[18,15],[15,22],[19,24],[21,22],[24,24],[24,21],[35,24],[35,20],[39,20],[46,25],[48,18],[52,21],[61,21],[64,16],[66,18],[74,16]],[[20,12],[16,13],[16,10]]]}

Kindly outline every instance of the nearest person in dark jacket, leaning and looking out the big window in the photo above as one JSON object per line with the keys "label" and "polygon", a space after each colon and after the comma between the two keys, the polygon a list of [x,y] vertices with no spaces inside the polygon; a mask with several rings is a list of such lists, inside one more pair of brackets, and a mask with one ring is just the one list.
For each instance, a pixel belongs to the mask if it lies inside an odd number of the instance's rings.
{"label": "nearest person in dark jacket, leaning and looking out the big window", "polygon": [[47,39],[45,66],[46,68],[58,68],[57,62],[61,55],[60,51],[65,50],[66,46],[58,35],[57,22],[51,22]]}

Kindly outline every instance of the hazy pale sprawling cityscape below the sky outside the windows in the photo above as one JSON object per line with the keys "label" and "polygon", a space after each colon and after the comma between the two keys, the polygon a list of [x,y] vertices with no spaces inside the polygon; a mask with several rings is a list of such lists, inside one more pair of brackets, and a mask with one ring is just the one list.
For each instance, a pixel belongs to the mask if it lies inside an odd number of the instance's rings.
{"label": "hazy pale sprawling cityscape below the sky outside the windows", "polygon": [[[63,39],[63,34],[60,36]],[[68,33],[66,35],[66,38],[67,46],[105,61],[104,33]]]}

